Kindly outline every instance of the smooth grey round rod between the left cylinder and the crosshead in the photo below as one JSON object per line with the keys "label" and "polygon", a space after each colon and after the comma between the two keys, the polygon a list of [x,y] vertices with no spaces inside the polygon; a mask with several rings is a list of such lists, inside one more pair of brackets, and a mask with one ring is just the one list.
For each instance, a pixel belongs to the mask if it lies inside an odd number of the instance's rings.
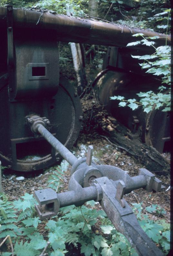
{"label": "smooth grey round rod between the left cylinder and the crosshead", "polygon": [[73,165],[73,163],[77,160],[75,157],[59,140],[57,140],[42,124],[38,124],[36,126],[36,130],[40,133],[46,141],[48,141],[53,148],[60,153],[60,155]]}

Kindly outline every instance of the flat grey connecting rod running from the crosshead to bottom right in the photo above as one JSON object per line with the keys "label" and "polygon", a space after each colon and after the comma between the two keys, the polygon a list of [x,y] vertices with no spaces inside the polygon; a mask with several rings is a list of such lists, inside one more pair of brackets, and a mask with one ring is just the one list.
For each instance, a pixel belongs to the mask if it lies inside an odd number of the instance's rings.
{"label": "flat grey connecting rod running from the crosshead to bottom right", "polygon": [[122,208],[115,198],[116,188],[107,178],[99,178],[96,181],[102,189],[101,206],[108,215],[115,228],[124,234],[139,256],[161,256],[163,253],[158,249],[151,239],[139,226],[135,214],[124,200],[125,207]]}

